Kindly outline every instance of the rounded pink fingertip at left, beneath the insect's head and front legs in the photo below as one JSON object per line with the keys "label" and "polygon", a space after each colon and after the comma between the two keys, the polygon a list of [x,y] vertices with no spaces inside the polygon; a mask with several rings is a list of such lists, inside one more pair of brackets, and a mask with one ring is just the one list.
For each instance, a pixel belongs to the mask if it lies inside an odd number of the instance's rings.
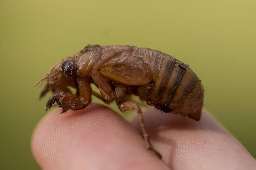
{"label": "rounded pink fingertip at left, beneath the insect's head and front legs", "polygon": [[168,169],[148,152],[139,133],[108,107],[47,114],[32,136],[42,169]]}

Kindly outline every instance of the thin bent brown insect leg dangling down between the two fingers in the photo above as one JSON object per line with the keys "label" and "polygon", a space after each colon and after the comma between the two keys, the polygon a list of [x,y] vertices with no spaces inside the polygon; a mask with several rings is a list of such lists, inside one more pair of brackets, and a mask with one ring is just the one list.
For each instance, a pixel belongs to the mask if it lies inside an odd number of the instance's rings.
{"label": "thin bent brown insect leg dangling down between the two fingers", "polygon": [[144,118],[142,116],[141,109],[138,106],[138,104],[133,102],[133,101],[126,101],[122,105],[119,106],[119,109],[120,109],[121,112],[125,112],[127,110],[136,110],[137,111],[139,119],[140,119],[140,127],[141,127],[141,130],[142,130],[142,133],[143,133],[143,138],[145,140],[147,149],[155,152],[155,154],[158,156],[158,158],[162,159],[161,154],[155,150],[155,148],[152,146],[152,144],[150,142],[149,135],[148,135],[146,125],[145,125],[145,122],[144,122]]}

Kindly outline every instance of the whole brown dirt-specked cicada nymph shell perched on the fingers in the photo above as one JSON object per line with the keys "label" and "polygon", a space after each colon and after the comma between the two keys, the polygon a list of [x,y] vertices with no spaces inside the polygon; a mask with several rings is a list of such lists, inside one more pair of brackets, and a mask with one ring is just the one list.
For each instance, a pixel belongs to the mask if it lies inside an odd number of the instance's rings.
{"label": "whole brown dirt-specked cicada nymph shell perched on the fingers", "polygon": [[[88,45],[55,64],[46,78],[40,97],[48,91],[54,93],[46,110],[55,102],[62,107],[62,113],[85,108],[91,103],[92,94],[105,102],[115,100],[121,112],[137,111],[147,149],[159,158],[161,155],[150,143],[140,107],[127,101],[127,96],[134,94],[166,113],[197,121],[203,107],[203,86],[188,65],[149,48]],[[99,88],[100,94],[92,91],[91,83]],[[76,94],[67,86],[76,88]]]}

